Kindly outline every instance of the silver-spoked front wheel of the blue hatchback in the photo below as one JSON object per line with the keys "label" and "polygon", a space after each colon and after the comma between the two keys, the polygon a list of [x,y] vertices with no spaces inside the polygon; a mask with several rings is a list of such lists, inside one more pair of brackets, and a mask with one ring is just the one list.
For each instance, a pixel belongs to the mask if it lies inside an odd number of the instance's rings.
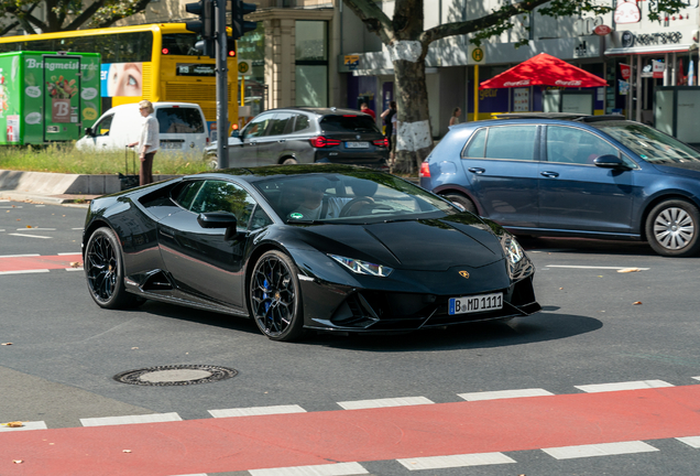
{"label": "silver-spoked front wheel of the blue hatchback", "polygon": [[656,205],[646,220],[646,238],[652,249],[666,257],[698,252],[700,213],[691,203],[671,199]]}

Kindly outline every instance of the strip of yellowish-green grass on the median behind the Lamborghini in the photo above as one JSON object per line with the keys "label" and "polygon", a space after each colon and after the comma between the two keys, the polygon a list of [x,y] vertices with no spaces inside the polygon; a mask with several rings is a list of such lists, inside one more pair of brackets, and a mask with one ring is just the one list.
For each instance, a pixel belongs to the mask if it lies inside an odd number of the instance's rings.
{"label": "strip of yellowish-green grass on the median behind the Lamborghini", "polygon": [[[139,166],[138,159],[135,166]],[[129,172],[133,173],[131,154],[129,155]],[[3,147],[0,148],[0,170],[109,175],[124,173],[124,153],[81,152],[69,145],[50,145],[37,149]],[[153,161],[155,175],[193,174],[207,170],[206,162],[185,156],[158,156],[156,153]]]}

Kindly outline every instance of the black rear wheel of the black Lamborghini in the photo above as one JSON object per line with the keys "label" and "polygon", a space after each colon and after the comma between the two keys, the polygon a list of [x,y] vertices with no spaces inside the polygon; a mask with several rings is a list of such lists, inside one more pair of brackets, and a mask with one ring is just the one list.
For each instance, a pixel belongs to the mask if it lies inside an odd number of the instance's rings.
{"label": "black rear wheel of the black Lamborghini", "polygon": [[143,302],[124,290],[121,249],[110,228],[99,228],[90,236],[84,268],[90,295],[100,307],[124,309]]}

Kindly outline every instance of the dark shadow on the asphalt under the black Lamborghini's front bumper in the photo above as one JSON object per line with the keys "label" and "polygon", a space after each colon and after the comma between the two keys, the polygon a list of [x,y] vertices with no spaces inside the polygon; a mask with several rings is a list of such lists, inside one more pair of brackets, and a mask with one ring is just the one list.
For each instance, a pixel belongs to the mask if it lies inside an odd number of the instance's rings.
{"label": "dark shadow on the asphalt under the black Lamborghini's front bumper", "polygon": [[311,334],[306,337],[305,343],[380,353],[478,349],[559,340],[594,332],[602,326],[603,323],[593,317],[564,314],[559,313],[557,307],[545,307],[540,313],[507,322],[462,324],[408,334]]}

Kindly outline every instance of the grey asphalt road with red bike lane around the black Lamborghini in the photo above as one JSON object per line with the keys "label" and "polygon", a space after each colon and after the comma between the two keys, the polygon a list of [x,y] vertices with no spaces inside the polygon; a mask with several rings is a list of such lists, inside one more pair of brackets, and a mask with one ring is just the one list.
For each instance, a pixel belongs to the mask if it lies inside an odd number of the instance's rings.
{"label": "grey asphalt road with red bike lane around the black Lamborghini", "polygon": [[[319,461],[361,462],[327,474],[408,475],[428,463],[401,461],[436,455],[436,442],[445,455],[488,453],[511,461],[416,474],[697,474],[700,442],[677,440],[700,436],[697,258],[660,258],[645,244],[523,240],[537,268],[544,306],[537,315],[398,336],[318,334],[284,344],[267,340],[251,322],[162,303],[99,309],[72,266],[75,255],[67,255],[80,251],[85,213],[0,202],[0,343],[11,343],[0,346],[0,423],[43,422],[48,429],[0,426],[3,476],[242,475]],[[429,244],[422,247],[429,250]],[[51,262],[57,264],[44,272],[8,271],[10,260],[24,258],[18,255],[46,262],[56,257]],[[25,258],[36,268],[36,257]],[[619,272],[630,269],[636,271]],[[125,370],[178,364],[225,366],[238,375],[178,387],[112,379]],[[587,387],[620,382],[635,383],[627,385],[632,390]],[[518,389],[537,389],[537,397],[467,401]],[[396,405],[396,399],[407,405],[347,410]],[[209,412],[276,405],[305,413],[217,421]],[[121,450],[111,459],[103,448],[76,450],[102,437],[99,428],[81,428],[86,419],[153,414],[184,421],[110,426],[109,437],[119,447],[145,448],[169,431],[186,432],[187,442],[167,436],[177,441],[179,453],[173,454],[186,454],[184,461],[173,463],[176,456],[160,446],[169,466],[144,457],[127,469]],[[219,447],[231,434],[240,439],[238,459],[217,458],[233,445]],[[275,440],[281,435],[287,443]],[[39,447],[46,441],[75,446],[45,459]],[[586,442],[599,443],[595,456],[582,456]],[[578,448],[576,457],[545,451],[569,446]],[[264,456],[255,453],[261,448]],[[53,468],[34,464],[40,459],[53,462]],[[84,463],[80,470],[76,462]]]}

